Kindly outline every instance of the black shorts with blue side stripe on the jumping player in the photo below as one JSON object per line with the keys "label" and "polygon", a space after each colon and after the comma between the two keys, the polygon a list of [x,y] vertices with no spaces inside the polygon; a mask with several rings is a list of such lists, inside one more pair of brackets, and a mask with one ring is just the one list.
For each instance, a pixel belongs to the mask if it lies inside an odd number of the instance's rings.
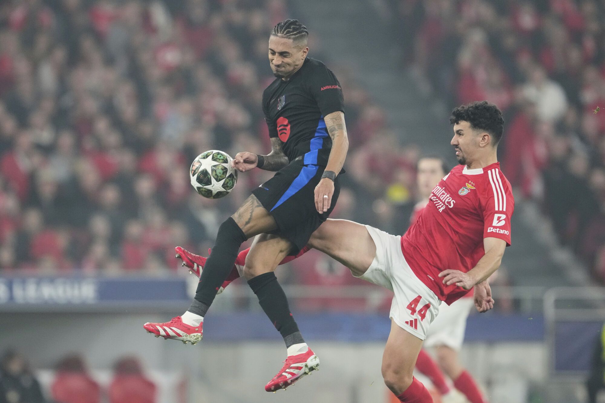
{"label": "black shorts with blue side stripe on the jumping player", "polygon": [[336,206],[340,193],[338,176],[334,182],[334,194],[328,211],[319,214],[315,209],[315,186],[321,180],[324,169],[323,166],[302,165],[302,159],[296,159],[252,191],[275,218],[278,229],[271,234],[280,235],[292,242],[290,255],[298,254],[309,242],[311,234],[329,217]]}

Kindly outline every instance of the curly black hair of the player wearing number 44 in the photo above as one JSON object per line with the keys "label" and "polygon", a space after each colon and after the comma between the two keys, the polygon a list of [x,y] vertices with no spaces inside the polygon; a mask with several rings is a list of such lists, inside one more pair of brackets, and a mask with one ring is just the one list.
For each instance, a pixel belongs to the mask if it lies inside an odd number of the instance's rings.
{"label": "curly black hair of the player wearing number 44", "polygon": [[471,124],[473,129],[483,130],[494,137],[494,145],[502,139],[504,131],[504,118],[502,111],[493,103],[475,101],[458,106],[452,111],[450,123],[456,125],[462,121]]}

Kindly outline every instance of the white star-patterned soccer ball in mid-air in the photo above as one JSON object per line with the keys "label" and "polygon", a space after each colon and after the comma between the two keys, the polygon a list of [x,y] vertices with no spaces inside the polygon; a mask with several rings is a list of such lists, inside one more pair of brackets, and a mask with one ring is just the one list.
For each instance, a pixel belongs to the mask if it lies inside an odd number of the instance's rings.
{"label": "white star-patterned soccer ball in mid-air", "polygon": [[221,198],[229,194],[237,182],[232,158],[223,151],[211,149],[195,158],[189,169],[191,185],[203,197]]}

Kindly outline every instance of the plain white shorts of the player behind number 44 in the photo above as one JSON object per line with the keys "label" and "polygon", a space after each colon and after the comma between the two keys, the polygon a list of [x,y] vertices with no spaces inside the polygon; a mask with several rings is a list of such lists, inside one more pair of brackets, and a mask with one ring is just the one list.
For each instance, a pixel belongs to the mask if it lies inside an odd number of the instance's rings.
{"label": "plain white shorts of the player behind number 44", "polygon": [[464,341],[466,319],[473,308],[473,298],[460,298],[453,304],[443,304],[439,315],[427,333],[425,347],[448,346],[460,351]]}

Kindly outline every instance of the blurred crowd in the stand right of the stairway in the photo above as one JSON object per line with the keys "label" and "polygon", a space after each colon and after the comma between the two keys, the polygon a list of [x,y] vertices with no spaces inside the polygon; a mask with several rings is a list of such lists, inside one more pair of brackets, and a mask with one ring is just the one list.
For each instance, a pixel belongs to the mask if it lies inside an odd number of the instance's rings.
{"label": "blurred crowd in the stand right of the stairway", "polygon": [[602,2],[391,4],[416,39],[402,50],[421,89],[449,106],[487,99],[503,110],[499,151],[511,184],[544,206],[561,243],[605,279],[594,266],[605,195],[600,175],[589,179],[605,168]]}

